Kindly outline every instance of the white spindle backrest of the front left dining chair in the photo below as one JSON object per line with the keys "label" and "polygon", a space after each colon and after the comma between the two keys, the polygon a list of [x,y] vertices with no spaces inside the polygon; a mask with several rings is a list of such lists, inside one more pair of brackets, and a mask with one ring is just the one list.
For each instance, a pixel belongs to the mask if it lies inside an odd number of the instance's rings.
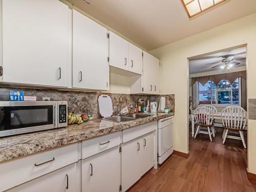
{"label": "white spindle backrest of the front left dining chair", "polygon": [[205,106],[200,106],[194,111],[194,117],[197,124],[200,125],[212,125],[214,119],[214,112]]}

